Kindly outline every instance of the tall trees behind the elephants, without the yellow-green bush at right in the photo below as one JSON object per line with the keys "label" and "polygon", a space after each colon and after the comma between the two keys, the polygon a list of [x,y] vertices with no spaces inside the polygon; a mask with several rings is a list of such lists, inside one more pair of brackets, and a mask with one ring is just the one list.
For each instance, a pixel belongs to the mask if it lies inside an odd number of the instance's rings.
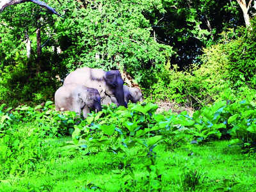
{"label": "tall trees behind the elephants, without the yellow-green bush at right", "polygon": [[[168,82],[164,71],[204,63],[205,47],[230,29],[237,38],[236,30],[247,25],[238,0],[42,2],[58,14],[35,1],[0,13],[0,84],[19,90],[20,97],[33,90],[28,99],[43,97],[45,84],[49,97],[60,84],[56,76],[83,66],[124,70],[143,88],[159,78]],[[252,18],[255,1],[245,3]]]}

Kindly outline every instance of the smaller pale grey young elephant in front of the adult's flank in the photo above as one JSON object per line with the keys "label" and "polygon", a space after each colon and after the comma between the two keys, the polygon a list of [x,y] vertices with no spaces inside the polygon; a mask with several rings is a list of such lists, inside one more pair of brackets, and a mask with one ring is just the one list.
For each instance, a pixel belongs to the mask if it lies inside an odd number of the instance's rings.
{"label": "smaller pale grey young elephant in front of the adult's flank", "polygon": [[88,88],[80,84],[65,84],[58,88],[54,95],[56,111],[75,111],[84,118],[90,113],[89,108],[101,111],[100,95],[95,88]]}

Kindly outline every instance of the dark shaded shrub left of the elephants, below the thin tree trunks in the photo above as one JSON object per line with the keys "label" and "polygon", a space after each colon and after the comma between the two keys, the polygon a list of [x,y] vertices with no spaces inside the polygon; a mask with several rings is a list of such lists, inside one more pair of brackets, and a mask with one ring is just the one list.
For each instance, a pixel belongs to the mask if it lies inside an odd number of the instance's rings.
{"label": "dark shaded shrub left of the elephants, below the thin tree trunks", "polygon": [[40,103],[51,99],[55,90],[60,86],[56,81],[56,70],[36,72],[31,61],[19,54],[15,65],[8,65],[0,70],[0,101],[9,106],[18,106],[26,102]]}

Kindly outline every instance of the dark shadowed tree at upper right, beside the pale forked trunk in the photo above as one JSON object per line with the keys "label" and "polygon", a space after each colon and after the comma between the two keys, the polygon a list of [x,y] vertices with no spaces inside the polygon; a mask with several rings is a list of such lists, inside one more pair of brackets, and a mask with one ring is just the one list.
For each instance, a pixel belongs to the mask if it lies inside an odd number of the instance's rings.
{"label": "dark shadowed tree at upper right, beside the pale forked trunk", "polygon": [[163,10],[145,12],[159,43],[177,52],[171,63],[181,68],[198,61],[202,47],[216,42],[227,28],[243,24],[236,1],[162,0]]}

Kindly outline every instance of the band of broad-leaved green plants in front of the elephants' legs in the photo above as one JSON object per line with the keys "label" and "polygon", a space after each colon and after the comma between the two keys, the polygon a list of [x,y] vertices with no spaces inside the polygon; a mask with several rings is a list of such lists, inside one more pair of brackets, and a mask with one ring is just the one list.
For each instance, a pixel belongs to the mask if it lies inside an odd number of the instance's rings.
{"label": "band of broad-leaved green plants in front of the elephants' legs", "polygon": [[[120,170],[116,173],[126,170],[120,175],[122,188],[129,188],[136,180],[139,185],[160,189],[164,186],[161,186],[161,168],[156,165],[159,159],[157,145],[164,151],[174,151],[182,145],[191,148],[191,145],[231,137],[230,144],[239,143],[246,152],[256,148],[256,108],[253,102],[246,100],[216,102],[193,115],[186,111],[159,114],[156,113],[157,105],[152,103],[129,104],[128,108],[112,105],[104,106],[99,113],[91,113],[85,120],[76,118],[72,112],[61,113],[52,108],[51,101],[46,102],[45,107],[36,108],[1,106],[1,179],[8,175],[29,175],[38,168],[47,172],[44,162],[49,157],[58,159],[60,153],[70,154],[72,159],[74,153],[84,158],[104,152],[104,157],[115,154],[110,164],[118,166]],[[55,150],[60,152],[51,154],[53,149],[47,140],[65,134],[72,134],[72,141],[61,144],[61,148]],[[148,177],[134,178],[134,164],[131,164],[134,159],[143,161],[141,169]],[[184,168],[184,173],[187,176],[180,177],[184,188],[196,188],[200,180],[205,179],[201,173],[188,168]]]}

